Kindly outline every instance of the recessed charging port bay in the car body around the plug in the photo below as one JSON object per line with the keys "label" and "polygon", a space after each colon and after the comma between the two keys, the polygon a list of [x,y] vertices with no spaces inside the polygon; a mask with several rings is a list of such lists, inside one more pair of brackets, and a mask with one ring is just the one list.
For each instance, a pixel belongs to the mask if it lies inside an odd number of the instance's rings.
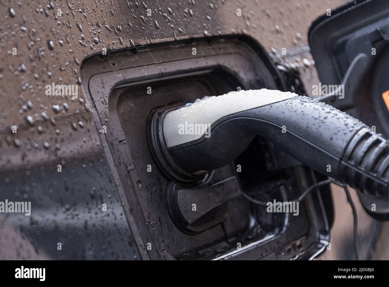
{"label": "recessed charging port bay in the car body around the plug", "polygon": [[[192,55],[194,46],[197,55]],[[154,109],[239,88],[284,90],[277,69],[255,41],[233,36],[191,39],[141,46],[136,56],[128,50],[111,52],[105,62],[91,56],[82,63],[81,78],[96,127],[107,130],[99,136],[118,194],[128,207],[131,229],[140,230],[142,244],[152,243],[147,252],[151,259],[261,259],[301,238],[304,251],[292,252],[291,258],[309,258],[323,249],[329,234],[320,194],[301,204],[299,216],[268,213],[240,195],[283,201],[280,186],[294,195],[311,183],[309,172],[299,175],[305,182],[297,181],[295,167],[267,160],[279,151],[267,148],[263,139],[256,137],[235,163],[193,186],[166,176],[149,147],[147,129]],[[244,158],[254,154],[265,159],[249,167]],[[281,181],[280,174],[291,181]]]}

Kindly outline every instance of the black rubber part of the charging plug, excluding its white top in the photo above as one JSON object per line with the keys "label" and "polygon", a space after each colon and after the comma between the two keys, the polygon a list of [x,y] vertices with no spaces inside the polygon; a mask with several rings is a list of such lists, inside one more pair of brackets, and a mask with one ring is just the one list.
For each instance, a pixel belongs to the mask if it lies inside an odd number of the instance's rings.
{"label": "black rubber part of the charging plug, excluding its white top", "polygon": [[365,193],[388,197],[389,149],[381,135],[333,106],[296,96],[226,115],[210,137],[168,149],[182,170],[194,174],[233,161],[256,135],[304,165]]}

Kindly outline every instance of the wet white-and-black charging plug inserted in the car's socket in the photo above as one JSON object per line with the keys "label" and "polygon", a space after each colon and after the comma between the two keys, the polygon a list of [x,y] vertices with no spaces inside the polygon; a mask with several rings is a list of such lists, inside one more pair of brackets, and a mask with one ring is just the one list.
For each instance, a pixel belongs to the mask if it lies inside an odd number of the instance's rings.
{"label": "wet white-and-black charging plug inserted in the car's socket", "polygon": [[175,179],[184,175],[190,182],[227,165],[261,135],[317,172],[388,197],[387,140],[347,113],[309,97],[242,90],[162,108],[152,119],[154,158]]}

